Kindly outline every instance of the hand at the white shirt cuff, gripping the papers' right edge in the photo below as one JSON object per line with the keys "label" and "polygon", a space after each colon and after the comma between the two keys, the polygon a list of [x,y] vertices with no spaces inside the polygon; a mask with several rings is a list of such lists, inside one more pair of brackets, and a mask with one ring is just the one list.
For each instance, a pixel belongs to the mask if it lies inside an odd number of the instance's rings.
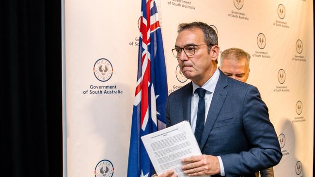
{"label": "hand at the white shirt cuff, gripping the papers' right edge", "polygon": [[188,163],[182,166],[185,174],[189,176],[215,175],[220,173],[220,163],[216,156],[199,155],[182,159],[182,162]]}

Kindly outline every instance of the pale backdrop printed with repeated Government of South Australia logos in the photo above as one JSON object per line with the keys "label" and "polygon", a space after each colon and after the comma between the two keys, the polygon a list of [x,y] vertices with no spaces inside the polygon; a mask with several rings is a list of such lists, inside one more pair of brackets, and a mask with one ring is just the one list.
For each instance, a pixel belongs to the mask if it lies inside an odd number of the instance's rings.
{"label": "pale backdrop printed with repeated Government of South Australia logos", "polygon": [[[182,22],[217,31],[221,52],[251,55],[248,83],[268,105],[283,152],[275,177],[312,177],[312,0],[156,0],[169,93],[190,80],[171,49]],[[67,177],[126,177],[137,82],[140,0],[65,0]],[[219,57],[220,63],[220,57]],[[104,169],[106,170],[106,169]]]}

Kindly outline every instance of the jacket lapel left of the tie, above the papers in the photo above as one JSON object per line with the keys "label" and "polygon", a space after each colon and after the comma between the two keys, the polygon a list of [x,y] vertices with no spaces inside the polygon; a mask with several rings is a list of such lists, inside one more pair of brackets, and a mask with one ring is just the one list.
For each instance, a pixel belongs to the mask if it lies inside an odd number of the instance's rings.
{"label": "jacket lapel left of the tie, above the papers", "polygon": [[183,106],[183,120],[188,120],[190,123],[190,105],[191,105],[191,94],[192,94],[192,83],[190,82],[188,87],[184,89],[184,96],[182,97]]}

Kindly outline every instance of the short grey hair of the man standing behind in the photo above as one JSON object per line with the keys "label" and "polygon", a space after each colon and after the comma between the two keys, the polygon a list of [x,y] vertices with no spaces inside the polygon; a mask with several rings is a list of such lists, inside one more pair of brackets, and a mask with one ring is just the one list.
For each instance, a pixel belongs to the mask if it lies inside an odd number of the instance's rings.
{"label": "short grey hair of the man standing behind", "polygon": [[221,60],[220,60],[220,66],[223,65],[224,59],[235,59],[240,60],[241,58],[246,58],[247,61],[247,67],[250,67],[250,59],[251,55],[245,52],[244,50],[240,48],[229,48],[224,50],[221,53]]}

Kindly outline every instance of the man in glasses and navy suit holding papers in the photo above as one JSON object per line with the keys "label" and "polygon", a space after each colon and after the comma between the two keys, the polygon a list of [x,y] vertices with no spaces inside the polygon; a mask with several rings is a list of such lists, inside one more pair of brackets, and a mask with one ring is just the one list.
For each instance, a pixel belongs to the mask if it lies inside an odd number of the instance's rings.
{"label": "man in glasses and navy suit holding papers", "polygon": [[[182,159],[189,176],[255,177],[282,158],[268,108],[257,88],[217,68],[218,37],[202,22],[179,25],[172,50],[189,84],[167,100],[167,126],[190,122],[203,155]],[[177,177],[173,170],[159,177]]]}

